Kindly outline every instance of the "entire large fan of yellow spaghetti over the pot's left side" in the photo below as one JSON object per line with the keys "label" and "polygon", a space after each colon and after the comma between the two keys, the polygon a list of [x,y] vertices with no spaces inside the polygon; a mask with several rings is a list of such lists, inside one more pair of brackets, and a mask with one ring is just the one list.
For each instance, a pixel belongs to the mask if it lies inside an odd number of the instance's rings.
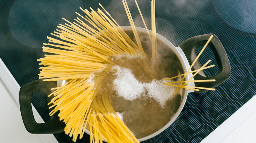
{"label": "entire large fan of yellow spaghetti over the pot's left side", "polygon": [[100,9],[91,10],[82,9],[85,16],[77,13],[80,18],[73,23],[63,18],[67,23],[57,26],[59,29],[51,34],[56,38],[47,37],[49,43],[42,47],[43,52],[51,54],[38,59],[44,66],[40,68],[39,78],[68,81],[53,88],[55,91],[49,95],[54,96],[49,103],[53,110],[49,114],[59,111],[60,120],[66,123],[64,131],[73,136],[74,141],[78,135],[82,138],[88,124],[91,138],[95,137],[93,142],[139,142],[106,99],[104,108],[95,101],[99,86],[92,79],[93,72],[110,71],[114,65],[111,56],[144,55],[144,51],[140,42],[135,44],[105,9],[108,16]]}

